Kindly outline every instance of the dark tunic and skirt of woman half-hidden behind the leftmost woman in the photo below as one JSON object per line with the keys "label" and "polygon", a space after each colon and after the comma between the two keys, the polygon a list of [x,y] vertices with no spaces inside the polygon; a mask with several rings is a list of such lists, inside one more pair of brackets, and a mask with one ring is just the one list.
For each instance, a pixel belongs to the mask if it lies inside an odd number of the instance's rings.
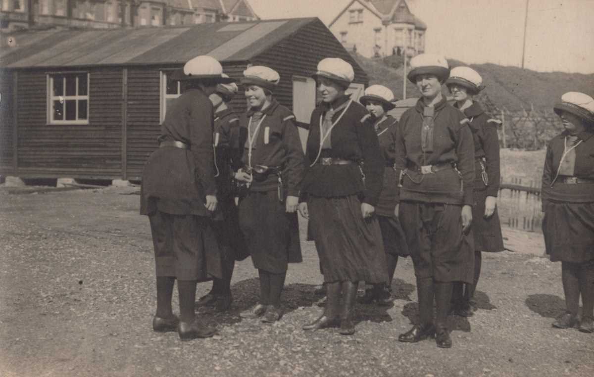
{"label": "dark tunic and skirt of woman half-hidden behind the leftmost woman", "polygon": [[[217,182],[217,211],[222,215],[214,221],[213,227],[219,241],[219,248],[226,260],[238,260],[249,256],[245,239],[239,229],[239,217],[233,195],[232,176],[241,167],[239,114],[227,108],[215,113],[214,150],[216,152],[215,178]],[[242,145],[242,144],[241,144]],[[243,145],[242,145],[243,147]]]}

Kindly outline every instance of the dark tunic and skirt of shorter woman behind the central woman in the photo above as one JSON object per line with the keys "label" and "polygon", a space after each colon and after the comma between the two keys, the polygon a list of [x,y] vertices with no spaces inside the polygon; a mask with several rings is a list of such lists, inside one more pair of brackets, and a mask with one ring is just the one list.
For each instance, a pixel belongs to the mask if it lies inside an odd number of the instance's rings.
{"label": "dark tunic and skirt of shorter woman behind the central woman", "polygon": [[386,161],[384,167],[384,184],[381,189],[380,199],[375,206],[375,213],[380,221],[381,237],[384,242],[384,249],[387,254],[407,256],[409,255],[406,246],[406,239],[400,220],[394,216],[394,208],[397,204],[398,176],[394,171],[394,142],[396,140],[396,129],[398,121],[388,115],[383,122],[375,125],[380,142],[381,154]]}

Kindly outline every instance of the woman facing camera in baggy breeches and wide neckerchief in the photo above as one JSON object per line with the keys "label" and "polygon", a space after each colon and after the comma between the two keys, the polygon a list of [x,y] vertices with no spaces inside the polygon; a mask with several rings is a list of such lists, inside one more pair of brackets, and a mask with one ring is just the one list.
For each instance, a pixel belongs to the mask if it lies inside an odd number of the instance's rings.
{"label": "woman facing camera in baggy breeches and wide neckerchief", "polygon": [[419,323],[399,341],[417,342],[435,333],[437,346],[449,348],[452,282],[473,278],[474,145],[468,119],[441,94],[450,73],[447,61],[422,54],[410,59],[410,66],[407,78],[422,97],[399,121],[394,167],[401,187],[395,213],[415,266]]}

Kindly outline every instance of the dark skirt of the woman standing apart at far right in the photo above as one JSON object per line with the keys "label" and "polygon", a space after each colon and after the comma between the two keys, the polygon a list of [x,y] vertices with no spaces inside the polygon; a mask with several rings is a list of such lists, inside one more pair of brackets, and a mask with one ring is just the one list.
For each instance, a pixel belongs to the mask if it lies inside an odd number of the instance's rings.
{"label": "dark skirt of the woman standing apart at far right", "polygon": [[546,202],[542,233],[551,261],[594,259],[594,202]]}

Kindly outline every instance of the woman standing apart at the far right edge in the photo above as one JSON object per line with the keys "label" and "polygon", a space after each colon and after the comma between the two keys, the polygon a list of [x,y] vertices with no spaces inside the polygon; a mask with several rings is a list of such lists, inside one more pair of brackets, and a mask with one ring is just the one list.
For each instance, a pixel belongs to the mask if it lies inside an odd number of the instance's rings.
{"label": "woman standing apart at the far right edge", "polygon": [[546,150],[542,231],[551,261],[561,261],[567,309],[552,326],[579,324],[580,331],[594,332],[594,99],[571,91],[563,94],[554,110],[565,131]]}

